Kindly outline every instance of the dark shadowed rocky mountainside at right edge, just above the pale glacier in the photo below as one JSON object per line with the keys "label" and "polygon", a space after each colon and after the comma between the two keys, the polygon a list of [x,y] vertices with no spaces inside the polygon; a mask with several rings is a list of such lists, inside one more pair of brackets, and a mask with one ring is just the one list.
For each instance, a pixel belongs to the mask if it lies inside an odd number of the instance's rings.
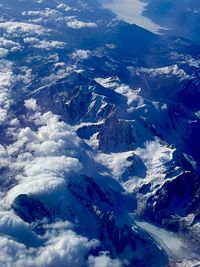
{"label": "dark shadowed rocky mountainside at right edge, just above the pale glacier", "polygon": [[145,216],[172,231],[184,231],[181,217],[199,211],[199,176],[187,171],[165,184],[147,201]]}

